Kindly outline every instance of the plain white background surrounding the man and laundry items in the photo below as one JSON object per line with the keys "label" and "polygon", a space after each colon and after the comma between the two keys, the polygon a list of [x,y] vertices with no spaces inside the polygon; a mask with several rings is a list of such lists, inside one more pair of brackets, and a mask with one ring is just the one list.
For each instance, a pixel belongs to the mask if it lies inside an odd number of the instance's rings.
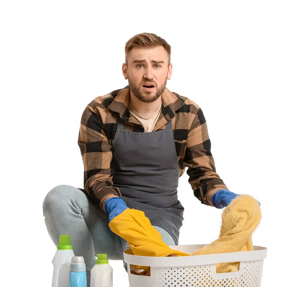
{"label": "plain white background surrounding the man and laundry items", "polygon": [[[83,186],[81,114],[123,88],[124,45],[141,32],[172,46],[167,87],[204,111],[217,172],[261,202],[254,245],[268,248],[262,286],[301,281],[300,1],[3,1],[1,27],[2,276],[7,286],[51,286],[56,247],[42,216],[46,193]],[[222,210],[179,183],[179,244],[218,238]],[[110,261],[114,286],[128,286]]]}

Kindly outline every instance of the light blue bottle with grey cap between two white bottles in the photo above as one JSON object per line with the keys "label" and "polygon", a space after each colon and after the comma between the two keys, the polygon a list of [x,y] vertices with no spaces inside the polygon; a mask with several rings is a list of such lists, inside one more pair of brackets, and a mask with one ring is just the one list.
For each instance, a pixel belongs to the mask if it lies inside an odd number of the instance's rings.
{"label": "light blue bottle with grey cap between two white bottles", "polygon": [[86,269],[84,258],[74,256],[70,265],[70,287],[86,287]]}

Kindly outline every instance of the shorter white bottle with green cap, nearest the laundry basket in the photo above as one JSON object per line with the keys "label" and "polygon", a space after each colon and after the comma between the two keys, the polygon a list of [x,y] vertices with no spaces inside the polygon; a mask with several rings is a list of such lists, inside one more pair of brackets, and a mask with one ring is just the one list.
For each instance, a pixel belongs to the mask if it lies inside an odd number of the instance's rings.
{"label": "shorter white bottle with green cap, nearest the laundry basket", "polygon": [[98,254],[96,264],[90,271],[90,287],[113,287],[113,268],[107,254]]}

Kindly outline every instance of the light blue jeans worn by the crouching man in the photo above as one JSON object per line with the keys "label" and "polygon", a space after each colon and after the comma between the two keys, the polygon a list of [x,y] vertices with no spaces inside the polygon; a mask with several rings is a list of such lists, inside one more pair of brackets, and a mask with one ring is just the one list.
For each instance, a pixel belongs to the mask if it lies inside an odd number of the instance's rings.
{"label": "light blue jeans worn by the crouching man", "polygon": [[[43,200],[43,215],[56,246],[60,234],[70,234],[75,256],[84,258],[88,287],[96,254],[106,253],[110,260],[123,260],[123,252],[129,249],[127,241],[110,229],[108,214],[100,209],[99,203],[76,187],[59,185],[49,191]],[[154,227],[166,244],[175,245],[166,230]],[[124,267],[127,271],[126,263]]]}

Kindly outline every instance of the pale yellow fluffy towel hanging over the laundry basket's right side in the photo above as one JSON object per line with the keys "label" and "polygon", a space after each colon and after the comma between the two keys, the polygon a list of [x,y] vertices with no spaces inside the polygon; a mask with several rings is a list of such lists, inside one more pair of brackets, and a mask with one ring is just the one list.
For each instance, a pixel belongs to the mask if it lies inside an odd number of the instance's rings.
{"label": "pale yellow fluffy towel hanging over the laundry basket's right side", "polygon": [[[252,251],[251,234],[261,221],[261,211],[256,199],[239,195],[222,213],[220,237],[213,243],[194,251],[193,255]],[[217,273],[235,272],[239,262],[217,264]]]}

